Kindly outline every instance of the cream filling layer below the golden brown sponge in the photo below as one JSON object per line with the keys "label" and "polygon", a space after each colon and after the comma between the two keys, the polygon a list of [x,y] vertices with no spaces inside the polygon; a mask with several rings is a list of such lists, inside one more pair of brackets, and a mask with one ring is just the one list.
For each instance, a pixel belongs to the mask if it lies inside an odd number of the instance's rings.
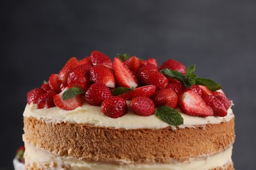
{"label": "cream filling layer below the golden brown sponge", "polygon": [[[198,158],[190,158],[188,161],[175,161],[173,163],[131,163],[127,165],[119,165],[116,163],[106,163],[100,161],[85,161],[73,158],[71,156],[58,156],[58,154],[48,152],[37,146],[33,146],[24,140],[26,152],[24,158],[26,165],[36,165],[41,169],[213,169],[223,167],[232,161],[232,146],[223,152],[211,156],[200,156]],[[122,161],[122,160],[120,160]]]}

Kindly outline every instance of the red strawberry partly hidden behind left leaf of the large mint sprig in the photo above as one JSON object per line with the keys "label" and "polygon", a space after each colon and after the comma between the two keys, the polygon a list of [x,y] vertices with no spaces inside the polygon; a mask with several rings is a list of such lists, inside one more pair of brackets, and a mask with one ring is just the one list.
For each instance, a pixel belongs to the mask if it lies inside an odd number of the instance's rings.
{"label": "red strawberry partly hidden behind left leaf of the large mint sprig", "polygon": [[[179,71],[183,75],[186,75],[186,67],[182,63],[174,59],[166,60],[160,67],[160,70],[162,69],[171,69],[173,71]],[[175,78],[171,78],[169,76],[167,76],[167,78],[169,82],[179,82],[179,80],[176,80]]]}

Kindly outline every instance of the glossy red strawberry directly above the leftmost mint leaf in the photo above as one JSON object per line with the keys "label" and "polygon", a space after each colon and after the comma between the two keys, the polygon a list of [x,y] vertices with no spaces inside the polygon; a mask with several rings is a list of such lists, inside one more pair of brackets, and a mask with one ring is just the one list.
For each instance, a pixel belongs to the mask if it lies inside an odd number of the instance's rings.
{"label": "glossy red strawberry directly above the leftmost mint leaf", "polygon": [[91,86],[89,71],[91,65],[84,63],[75,67],[68,75],[68,86],[81,88],[84,92]]}

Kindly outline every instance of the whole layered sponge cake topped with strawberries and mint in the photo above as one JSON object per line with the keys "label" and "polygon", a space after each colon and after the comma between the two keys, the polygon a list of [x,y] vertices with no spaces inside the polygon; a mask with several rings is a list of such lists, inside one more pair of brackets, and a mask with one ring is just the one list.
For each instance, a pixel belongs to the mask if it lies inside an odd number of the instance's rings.
{"label": "whole layered sponge cake topped with strawberries and mint", "polygon": [[234,169],[232,101],[168,59],[98,51],[28,92],[26,169]]}

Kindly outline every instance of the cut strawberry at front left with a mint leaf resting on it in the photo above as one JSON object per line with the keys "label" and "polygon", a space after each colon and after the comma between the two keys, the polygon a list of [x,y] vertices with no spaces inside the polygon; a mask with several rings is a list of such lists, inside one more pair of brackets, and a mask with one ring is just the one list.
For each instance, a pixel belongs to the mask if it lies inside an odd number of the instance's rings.
{"label": "cut strawberry at front left with a mint leaf resting on it", "polygon": [[83,103],[83,95],[78,94],[75,95],[75,97],[72,97],[70,99],[62,99],[62,95],[66,90],[70,89],[70,87],[66,87],[62,92],[56,94],[53,96],[54,104],[59,107],[60,109],[64,110],[74,110],[77,107],[80,107]]}

